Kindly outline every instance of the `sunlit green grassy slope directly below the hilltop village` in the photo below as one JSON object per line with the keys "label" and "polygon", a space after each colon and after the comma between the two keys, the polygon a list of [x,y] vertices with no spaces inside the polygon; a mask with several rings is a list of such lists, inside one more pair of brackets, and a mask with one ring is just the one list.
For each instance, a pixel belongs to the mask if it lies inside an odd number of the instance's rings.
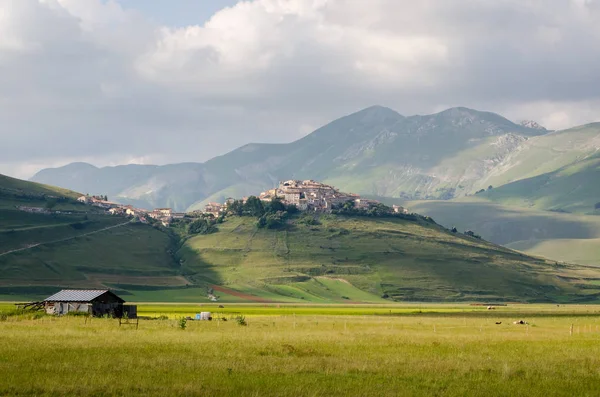
{"label": "sunlit green grassy slope directly below the hilltop village", "polygon": [[230,218],[218,233],[188,240],[179,253],[184,273],[266,300],[564,301],[598,292],[589,280],[595,269],[528,257],[429,222],[330,215],[320,225],[293,220],[285,230],[255,223]]}

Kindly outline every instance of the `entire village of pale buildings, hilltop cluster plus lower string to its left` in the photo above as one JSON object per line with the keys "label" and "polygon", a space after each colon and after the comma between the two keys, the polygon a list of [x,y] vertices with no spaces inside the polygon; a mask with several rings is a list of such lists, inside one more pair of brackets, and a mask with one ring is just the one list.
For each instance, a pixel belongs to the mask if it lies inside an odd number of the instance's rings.
{"label": "entire village of pale buildings, hilltop cluster plus lower string to its left", "polygon": [[[262,202],[279,200],[285,205],[295,206],[300,211],[318,213],[331,213],[335,207],[349,202],[358,210],[367,210],[380,204],[377,200],[365,199],[354,193],[344,193],[333,186],[313,180],[280,182],[278,187],[264,191],[256,197]],[[240,200],[236,200],[230,197],[223,203],[209,203],[202,211],[191,213],[175,212],[171,208],[155,208],[154,210],[135,208],[132,205],[108,201],[106,196],[84,195],[80,196],[77,201],[105,209],[111,215],[135,217],[142,223],[150,223],[151,220],[158,221],[163,226],[168,227],[173,220],[185,217],[193,218],[198,215],[209,215],[218,218],[227,212],[228,206],[232,203],[240,201],[242,204],[245,204],[248,198],[243,197]],[[27,212],[52,212],[45,208],[19,207],[19,209]],[[392,206],[391,212],[408,213],[405,208],[399,205]]]}

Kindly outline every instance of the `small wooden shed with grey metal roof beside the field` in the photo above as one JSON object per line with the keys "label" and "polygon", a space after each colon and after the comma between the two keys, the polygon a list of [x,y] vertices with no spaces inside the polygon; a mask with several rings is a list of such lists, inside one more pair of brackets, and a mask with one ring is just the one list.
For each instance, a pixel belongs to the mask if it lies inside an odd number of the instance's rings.
{"label": "small wooden shed with grey metal roof beside the field", "polygon": [[44,299],[47,314],[88,313],[101,317],[137,317],[137,306],[124,305],[125,301],[109,290],[62,290]]}

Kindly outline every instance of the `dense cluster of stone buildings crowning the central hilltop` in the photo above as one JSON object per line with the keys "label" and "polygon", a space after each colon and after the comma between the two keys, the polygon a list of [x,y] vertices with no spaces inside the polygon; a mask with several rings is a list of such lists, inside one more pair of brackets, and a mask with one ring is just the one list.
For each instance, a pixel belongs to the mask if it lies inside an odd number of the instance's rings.
{"label": "dense cluster of stone buildings crowning the central hilltop", "polygon": [[[301,211],[314,212],[331,212],[335,206],[348,201],[354,202],[354,207],[357,209],[368,209],[379,204],[377,200],[365,199],[354,193],[340,192],[333,186],[313,180],[280,182],[277,188],[262,192],[258,198],[263,202],[270,202],[277,198],[286,205],[295,205]],[[247,199],[244,197],[242,201],[245,203]],[[228,198],[223,204],[209,203],[203,212],[218,217],[226,211],[227,205],[232,201],[232,198]],[[399,205],[394,205],[392,208],[396,213],[408,213]]]}

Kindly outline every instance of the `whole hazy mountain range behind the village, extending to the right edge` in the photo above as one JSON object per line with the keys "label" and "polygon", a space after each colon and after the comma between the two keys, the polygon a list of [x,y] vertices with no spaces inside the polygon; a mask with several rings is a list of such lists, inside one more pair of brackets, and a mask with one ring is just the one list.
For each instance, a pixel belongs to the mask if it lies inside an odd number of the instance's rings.
{"label": "whole hazy mountain range behind the village, extending to the right edge", "polygon": [[582,188],[576,201],[560,196],[565,185],[578,183],[573,175],[579,170],[586,178],[597,175],[599,149],[600,123],[548,131],[536,122],[517,124],[467,108],[405,117],[373,106],[297,141],[251,143],[205,163],[103,168],[72,163],[44,169],[31,180],[179,211],[296,178],[404,200],[464,197],[491,185],[491,200],[586,212],[599,201],[598,187]]}

